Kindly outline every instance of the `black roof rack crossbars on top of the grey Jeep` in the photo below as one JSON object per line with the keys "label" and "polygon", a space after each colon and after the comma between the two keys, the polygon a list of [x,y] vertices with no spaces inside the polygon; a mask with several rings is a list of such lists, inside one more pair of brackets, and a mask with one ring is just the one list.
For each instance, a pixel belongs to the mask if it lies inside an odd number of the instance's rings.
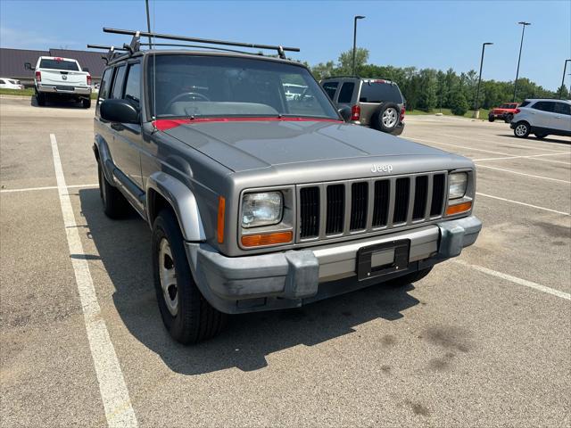
{"label": "black roof rack crossbars on top of the grey Jeep", "polygon": [[[130,54],[133,54],[133,53],[139,51],[141,45],[151,45],[151,46],[156,45],[154,43],[141,44],[140,43],[140,37],[153,37],[153,38],[161,38],[161,39],[166,39],[166,40],[178,40],[178,41],[182,41],[182,42],[201,43],[201,44],[206,44],[206,45],[226,45],[226,46],[237,46],[237,47],[249,47],[251,49],[271,50],[271,51],[277,51],[277,55],[279,56],[279,58],[284,59],[284,60],[285,60],[285,52],[286,51],[287,52],[300,52],[299,47],[285,47],[285,46],[281,46],[281,45],[257,45],[257,44],[253,44],[253,43],[227,42],[224,40],[211,40],[211,39],[207,39],[207,38],[173,36],[170,34],[150,33],[150,32],[145,32],[145,31],[136,31],[136,30],[132,30],[132,29],[109,29],[109,28],[104,27],[103,32],[104,33],[113,33],[113,34],[124,34],[126,36],[133,36],[131,43],[129,45],[127,45],[127,44],[123,45],[123,49],[127,50]],[[89,46],[95,46],[95,45],[87,45],[87,47],[89,47]],[[194,47],[194,46],[192,46],[192,47]],[[201,46],[195,46],[195,47],[201,47]],[[206,46],[202,46],[202,47],[206,47]],[[234,51],[231,51],[231,52],[234,52]],[[236,52],[243,53],[240,51],[236,51]]]}

